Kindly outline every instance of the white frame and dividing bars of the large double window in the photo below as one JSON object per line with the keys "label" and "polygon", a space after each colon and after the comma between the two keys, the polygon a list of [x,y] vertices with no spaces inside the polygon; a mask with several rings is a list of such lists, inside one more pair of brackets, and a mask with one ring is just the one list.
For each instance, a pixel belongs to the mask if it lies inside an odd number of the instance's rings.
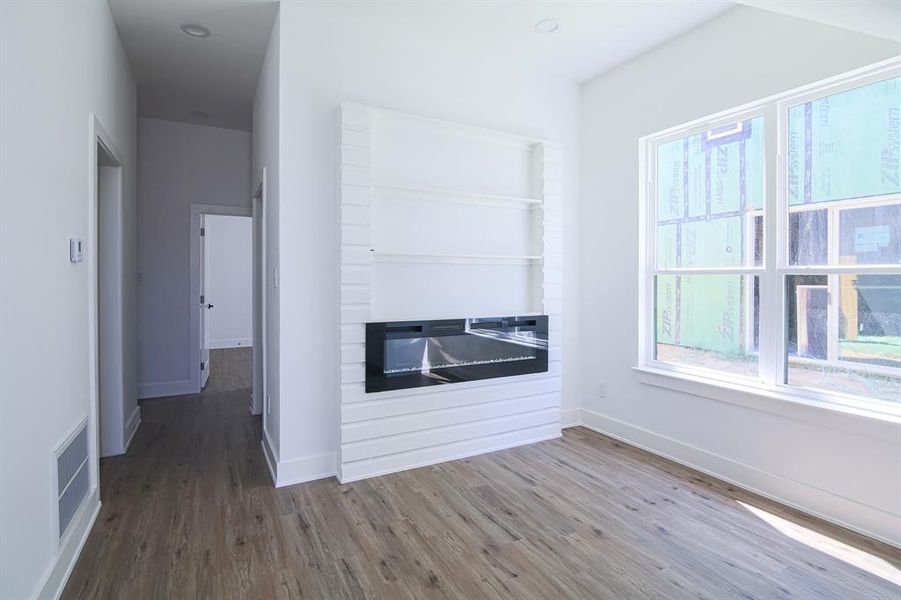
{"label": "white frame and dividing bars of the large double window", "polygon": [[[784,383],[787,374],[787,314],[785,280],[788,275],[830,275],[834,286],[841,274],[874,272],[901,275],[901,265],[805,266],[789,263],[788,186],[786,156],[788,109],[800,103],[840,93],[876,81],[901,75],[901,57],[882,61],[855,71],[777,94],[709,117],[654,133],[639,140],[639,356],[636,369],[643,381],[663,385],[661,377],[682,380],[680,388],[698,384],[698,393],[715,397],[733,394],[736,389],[758,396],[832,408],[865,417],[901,422],[901,402],[862,398],[840,392],[803,388]],[[764,240],[760,266],[729,268],[656,267],[656,148],[668,141],[729,125],[736,121],[764,118]],[[871,199],[875,203],[897,202],[898,195]],[[821,208],[832,208],[828,203]],[[841,204],[841,203],[839,203]],[[838,204],[835,207],[839,208]],[[798,209],[800,210],[800,209]],[[838,214],[837,210],[830,214]],[[760,278],[760,331],[758,377],[743,377],[724,371],[658,361],[656,350],[656,304],[654,279],[658,275],[756,275]],[[835,296],[833,296],[835,297]],[[837,301],[835,304],[837,307]],[[837,319],[830,319],[830,324]],[[750,335],[750,332],[749,332]],[[854,365],[842,364],[845,368]],[[706,392],[704,390],[706,390]],[[723,393],[725,391],[725,394]]]}

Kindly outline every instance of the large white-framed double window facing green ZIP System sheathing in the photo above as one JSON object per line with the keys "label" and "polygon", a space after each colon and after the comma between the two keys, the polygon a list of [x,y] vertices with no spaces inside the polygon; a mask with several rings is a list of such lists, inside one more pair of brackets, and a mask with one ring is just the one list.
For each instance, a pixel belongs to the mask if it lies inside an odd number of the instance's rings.
{"label": "large white-framed double window facing green ZIP System sheathing", "polygon": [[643,138],[644,366],[901,408],[898,65]]}

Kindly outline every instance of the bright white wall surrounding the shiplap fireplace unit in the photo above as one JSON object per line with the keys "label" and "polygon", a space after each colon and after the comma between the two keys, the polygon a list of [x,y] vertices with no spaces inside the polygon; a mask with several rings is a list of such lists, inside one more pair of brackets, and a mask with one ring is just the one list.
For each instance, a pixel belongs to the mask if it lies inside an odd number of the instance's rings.
{"label": "bright white wall surrounding the shiplap fireplace unit", "polygon": [[[458,31],[423,31],[377,11],[281,5],[279,228],[282,304],[281,461],[334,472],[339,403],[338,116],[359,102],[559,142],[564,168],[564,347],[577,347],[578,88],[528,61],[474,45]],[[315,340],[315,342],[311,342]],[[563,356],[563,405],[577,405]]]}

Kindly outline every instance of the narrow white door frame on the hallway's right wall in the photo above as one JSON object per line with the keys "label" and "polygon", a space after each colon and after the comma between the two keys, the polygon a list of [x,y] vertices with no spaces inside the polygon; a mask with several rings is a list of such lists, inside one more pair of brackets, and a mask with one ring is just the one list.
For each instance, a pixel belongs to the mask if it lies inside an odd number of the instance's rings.
{"label": "narrow white door frame on the hallway's right wall", "polygon": [[[253,396],[250,413],[263,414],[266,377],[266,167],[251,199],[253,210]],[[264,419],[265,427],[265,419]]]}

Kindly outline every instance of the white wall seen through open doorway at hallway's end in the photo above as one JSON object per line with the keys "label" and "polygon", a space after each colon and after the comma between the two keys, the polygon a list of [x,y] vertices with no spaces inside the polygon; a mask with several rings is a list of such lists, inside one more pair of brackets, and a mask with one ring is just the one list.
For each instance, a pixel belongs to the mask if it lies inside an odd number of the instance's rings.
{"label": "white wall seen through open doorway at hallway's end", "polygon": [[253,219],[207,215],[209,286],[206,300],[210,348],[253,343]]}

